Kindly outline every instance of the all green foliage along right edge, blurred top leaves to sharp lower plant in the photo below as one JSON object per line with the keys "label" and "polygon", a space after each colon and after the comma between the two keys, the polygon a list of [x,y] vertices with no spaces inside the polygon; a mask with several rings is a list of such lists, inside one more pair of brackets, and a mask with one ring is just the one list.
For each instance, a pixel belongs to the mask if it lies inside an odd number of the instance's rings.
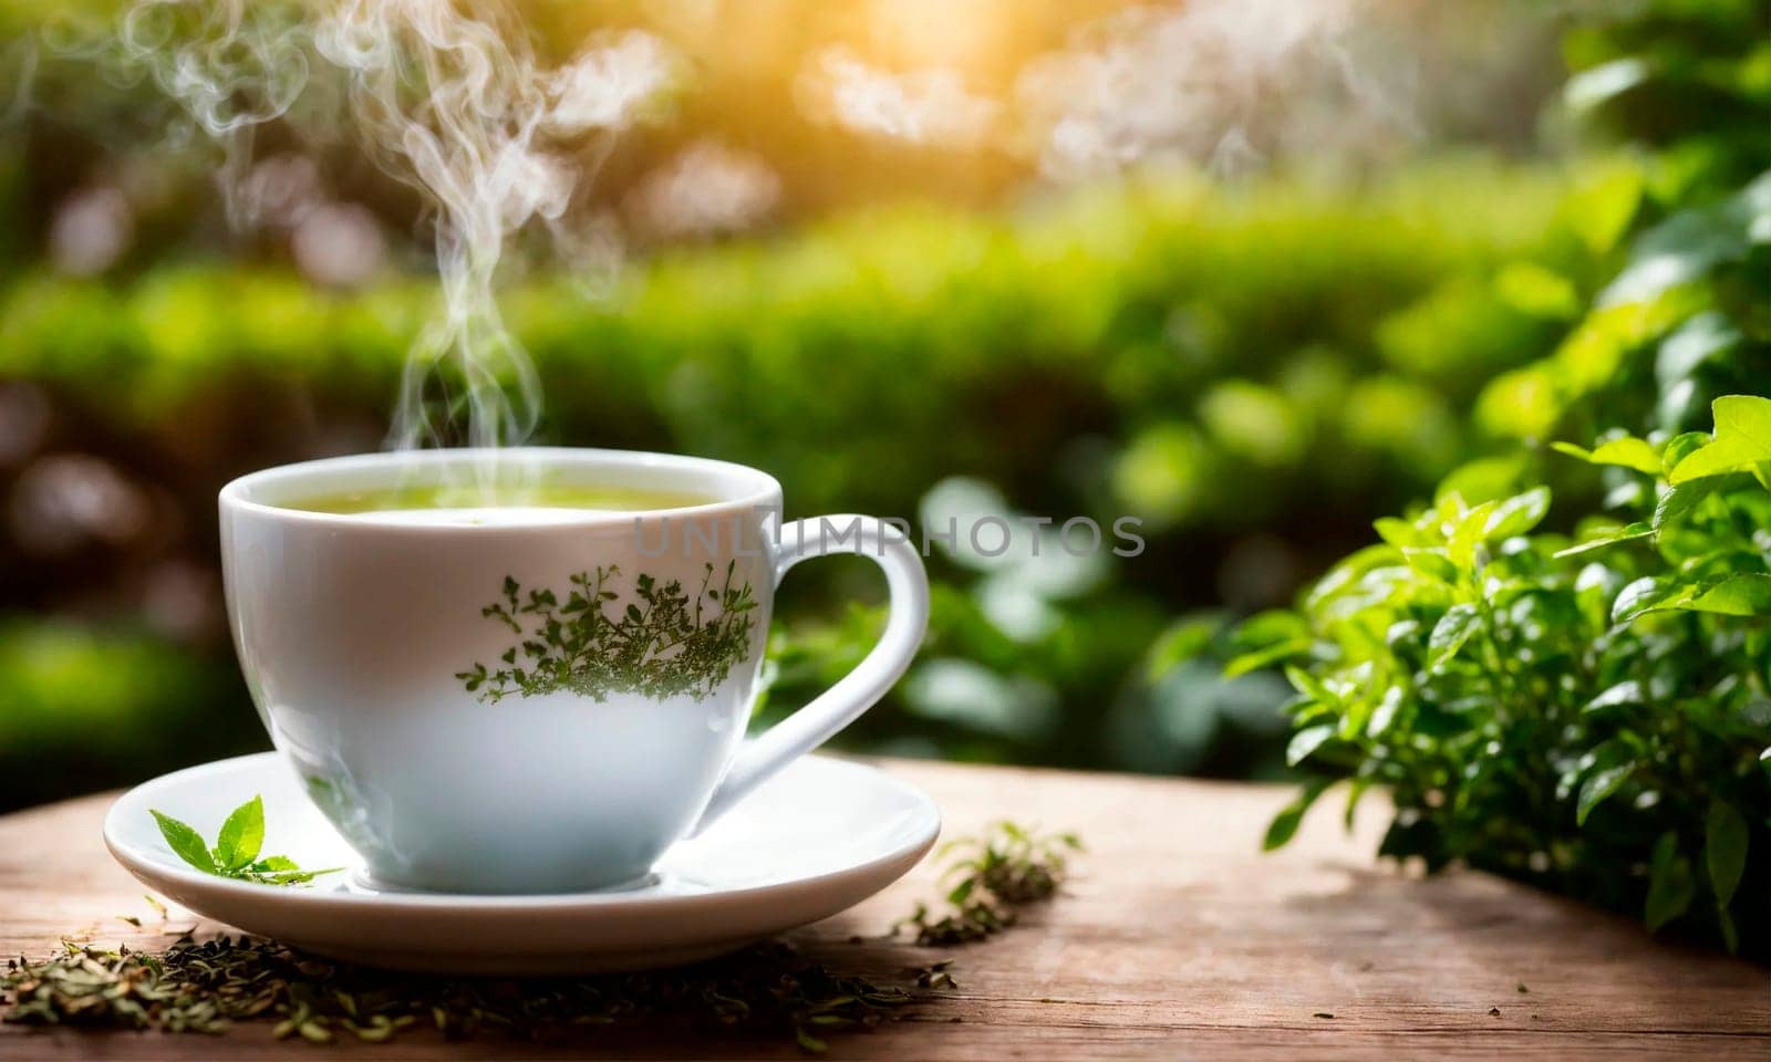
{"label": "all green foliage along right edge, blurred top leaves to sharp lower plant", "polygon": [[[1537,446],[1479,460],[1378,520],[1383,542],[1295,612],[1240,628],[1227,671],[1295,662],[1288,761],[1312,772],[1270,848],[1332,781],[1350,800],[1378,784],[1385,855],[1771,958],[1766,14],[1645,4],[1571,34],[1569,104],[1658,152],[1587,189],[1582,234],[1617,269],[1475,418],[1527,444],[1597,439],[1557,450],[1601,466],[1603,496]],[[1564,315],[1582,290],[1539,264],[1502,281]],[[1548,480],[1574,504],[1551,512]],[[1566,533],[1534,533],[1546,515]]]}

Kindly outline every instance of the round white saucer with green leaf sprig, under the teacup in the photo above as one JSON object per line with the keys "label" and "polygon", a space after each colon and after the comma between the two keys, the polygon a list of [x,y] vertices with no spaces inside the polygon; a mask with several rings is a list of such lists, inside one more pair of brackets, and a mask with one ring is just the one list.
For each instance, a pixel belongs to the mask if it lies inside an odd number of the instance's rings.
{"label": "round white saucer with green leaf sprig, under the teacup", "polygon": [[[149,814],[184,820],[213,843],[255,793],[266,855],[351,869],[310,887],[218,878],[174,855]],[[820,756],[800,758],[707,834],[666,851],[648,881],[615,892],[377,890],[276,752],[154,779],[104,816],[104,844],[131,874],[237,929],[377,966],[535,975],[671,966],[816,922],[896,881],[939,832],[940,812],[919,789]]]}

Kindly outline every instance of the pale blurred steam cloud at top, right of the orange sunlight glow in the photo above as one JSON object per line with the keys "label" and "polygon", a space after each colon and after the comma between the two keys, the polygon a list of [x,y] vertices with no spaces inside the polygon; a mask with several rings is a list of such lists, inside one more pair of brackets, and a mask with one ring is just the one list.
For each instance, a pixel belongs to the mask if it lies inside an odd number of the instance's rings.
{"label": "pale blurred steam cloud at top, right of the orange sunlight glow", "polygon": [[[914,147],[988,147],[1057,182],[1190,159],[1218,175],[1273,149],[1415,136],[1411,58],[1381,41],[1378,0],[1187,0],[1128,5],[1032,57],[1008,99],[960,71],[891,71],[847,46],[800,73],[811,120]],[[1392,53],[1378,62],[1371,51]]]}

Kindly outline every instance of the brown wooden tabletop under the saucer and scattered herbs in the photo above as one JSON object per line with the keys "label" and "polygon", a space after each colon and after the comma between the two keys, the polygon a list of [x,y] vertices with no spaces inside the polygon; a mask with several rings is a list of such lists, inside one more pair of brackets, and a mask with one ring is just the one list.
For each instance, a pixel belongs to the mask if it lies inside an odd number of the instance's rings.
{"label": "brown wooden tabletop under the saucer and scattered herbs", "polygon": [[[893,761],[926,788],[946,834],[1011,814],[1089,844],[1068,894],[990,942],[951,952],[878,935],[919,897],[919,867],[882,896],[793,935],[808,958],[901,975],[944,954],[960,988],[832,1058],[1771,1058],[1771,974],[1647,936],[1486,874],[1413,880],[1373,860],[1373,802],[1346,835],[1325,800],[1291,848],[1263,855],[1273,786]],[[34,958],[64,935],[163,947],[119,915],[151,917],[99,843],[108,796],[0,818],[0,952]],[[1330,807],[1334,804],[1334,807]],[[177,913],[177,912],[175,912]],[[1521,993],[1520,984],[1528,991]],[[1493,1011],[1498,1009],[1498,1014]],[[1319,1018],[1318,1014],[1334,1014]],[[0,1058],[374,1058],[505,1055],[799,1057],[792,1044],[673,1039],[280,1043],[264,1025],[225,1037],[0,1025]]]}

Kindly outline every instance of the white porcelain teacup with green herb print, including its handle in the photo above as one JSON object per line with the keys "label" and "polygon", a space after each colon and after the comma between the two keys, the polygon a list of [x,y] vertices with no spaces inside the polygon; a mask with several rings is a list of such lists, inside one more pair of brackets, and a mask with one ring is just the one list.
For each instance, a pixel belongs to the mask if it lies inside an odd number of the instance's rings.
{"label": "white porcelain teacup with green herb print, including its handle", "polygon": [[[483,522],[289,508],[514,464],[556,485],[707,501]],[[267,469],[221,489],[234,641],[271,740],[379,883],[618,887],[866,712],[921,643],[928,582],[901,531],[779,513],[772,476],[659,453],[432,450]],[[886,570],[886,634],[746,745],[776,584],[829,552]]]}

